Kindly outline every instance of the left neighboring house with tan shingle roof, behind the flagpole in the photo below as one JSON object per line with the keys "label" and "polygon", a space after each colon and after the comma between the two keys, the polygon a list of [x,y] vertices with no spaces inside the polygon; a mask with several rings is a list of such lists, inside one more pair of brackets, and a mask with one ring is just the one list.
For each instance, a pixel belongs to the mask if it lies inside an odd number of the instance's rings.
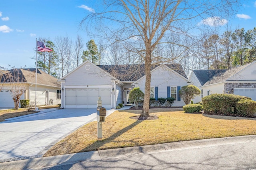
{"label": "left neighboring house with tan shingle roof, behind the flagpole", "polygon": [[22,83],[25,84],[26,90],[24,91],[24,94],[22,94],[20,100],[30,100],[30,104],[34,105],[36,97],[37,106],[60,104],[61,88],[60,83],[57,82],[57,78],[37,69],[36,83],[35,68],[20,68],[0,71],[0,74],[2,74],[1,84],[3,85],[2,90],[0,91],[0,107],[14,107],[14,101],[12,100],[9,92],[10,88],[8,88],[10,84],[8,82],[4,82],[4,76],[7,74],[12,74],[13,76],[19,74],[20,78],[24,78]]}

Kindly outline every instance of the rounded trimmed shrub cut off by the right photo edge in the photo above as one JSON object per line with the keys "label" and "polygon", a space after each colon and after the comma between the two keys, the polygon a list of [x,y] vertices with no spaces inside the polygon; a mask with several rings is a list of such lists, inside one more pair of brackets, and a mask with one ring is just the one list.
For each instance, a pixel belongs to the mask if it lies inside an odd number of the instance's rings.
{"label": "rounded trimmed shrub cut off by the right photo edge", "polygon": [[251,116],[256,113],[256,102],[249,99],[242,99],[236,103],[236,111],[242,116]]}

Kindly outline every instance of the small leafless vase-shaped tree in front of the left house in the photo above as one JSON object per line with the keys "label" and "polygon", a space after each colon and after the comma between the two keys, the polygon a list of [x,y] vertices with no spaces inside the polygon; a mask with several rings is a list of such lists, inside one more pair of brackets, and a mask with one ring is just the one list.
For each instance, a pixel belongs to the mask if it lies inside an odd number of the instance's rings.
{"label": "small leafless vase-shaped tree in front of the left house", "polygon": [[14,68],[3,75],[4,83],[14,101],[14,109],[19,109],[20,97],[24,94],[28,82],[34,75],[31,72]]}

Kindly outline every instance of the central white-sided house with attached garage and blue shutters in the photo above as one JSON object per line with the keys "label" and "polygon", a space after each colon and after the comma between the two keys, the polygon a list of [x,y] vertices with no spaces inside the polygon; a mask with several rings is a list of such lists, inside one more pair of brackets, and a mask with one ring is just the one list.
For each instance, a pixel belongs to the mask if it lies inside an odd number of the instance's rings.
{"label": "central white-sided house with attached garage and blue shutters", "polygon": [[[62,89],[62,107],[96,108],[98,96],[102,106],[116,108],[120,103],[131,104],[130,90],[139,86],[144,92],[144,65],[99,65],[85,61],[59,79]],[[180,64],[152,67],[151,97],[175,97],[173,106],[184,106],[178,89],[191,84]]]}

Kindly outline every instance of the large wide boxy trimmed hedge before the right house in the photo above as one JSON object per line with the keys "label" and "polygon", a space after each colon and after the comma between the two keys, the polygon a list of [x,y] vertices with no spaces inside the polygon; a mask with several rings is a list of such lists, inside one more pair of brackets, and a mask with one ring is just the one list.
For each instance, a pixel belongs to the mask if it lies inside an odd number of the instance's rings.
{"label": "large wide boxy trimmed hedge before the right house", "polygon": [[[202,98],[204,113],[206,114],[233,114],[236,115],[236,103],[242,99],[252,100],[251,98],[234,94],[211,94]],[[234,113],[232,112],[234,107]]]}

